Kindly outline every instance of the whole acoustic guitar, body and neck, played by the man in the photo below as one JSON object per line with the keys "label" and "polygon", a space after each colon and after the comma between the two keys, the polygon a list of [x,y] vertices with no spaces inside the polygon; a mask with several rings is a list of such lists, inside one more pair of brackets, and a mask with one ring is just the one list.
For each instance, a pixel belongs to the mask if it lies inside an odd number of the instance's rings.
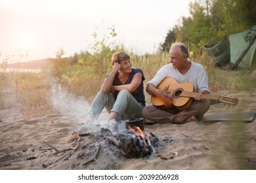
{"label": "whole acoustic guitar, body and neck, played by the man", "polygon": [[[171,101],[171,105],[165,105],[163,101],[157,97],[157,96],[151,96],[151,103],[158,107],[167,109],[172,107],[173,105],[179,110],[186,110],[188,109],[193,101],[194,96],[196,95],[196,90],[194,90],[193,84],[190,82],[185,83],[179,83],[174,78],[166,77],[164,78],[160,84],[157,86],[160,90],[165,90],[167,92],[170,92],[170,95],[172,95],[173,99]],[[216,95],[216,94],[202,94],[203,99],[213,99],[217,100],[223,103],[227,103],[229,105],[237,105],[238,104],[238,98],[236,97],[228,97],[224,95]]]}

